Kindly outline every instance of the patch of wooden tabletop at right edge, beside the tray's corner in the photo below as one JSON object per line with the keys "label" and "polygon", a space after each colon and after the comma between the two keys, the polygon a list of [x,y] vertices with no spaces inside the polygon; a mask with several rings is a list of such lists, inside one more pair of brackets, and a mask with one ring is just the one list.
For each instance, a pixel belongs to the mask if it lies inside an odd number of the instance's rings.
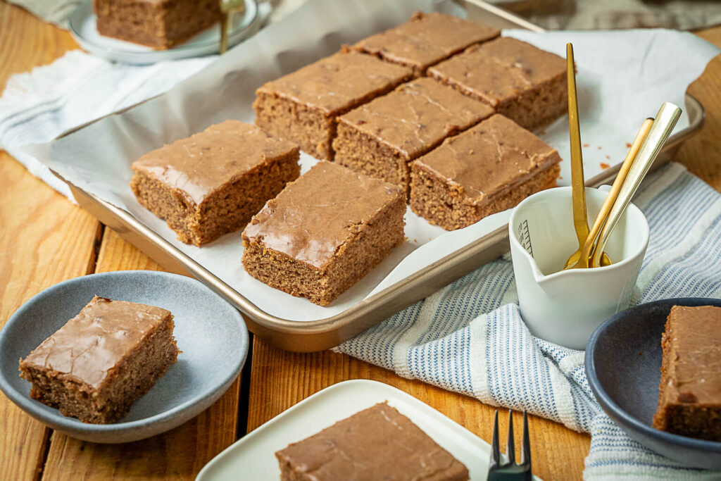
{"label": "patch of wooden tabletop at right edge, beside the tray's corner", "polygon": [[[721,47],[721,27],[703,30],[697,35]],[[689,86],[689,93],[704,105],[706,123],[698,135],[678,149],[676,160],[721,191],[721,56],[709,62],[704,74]]]}

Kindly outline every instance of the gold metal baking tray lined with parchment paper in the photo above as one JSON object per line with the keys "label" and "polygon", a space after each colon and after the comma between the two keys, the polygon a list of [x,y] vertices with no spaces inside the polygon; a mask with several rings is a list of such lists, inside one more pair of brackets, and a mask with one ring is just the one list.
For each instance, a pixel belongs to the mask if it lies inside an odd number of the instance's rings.
{"label": "gold metal baking tray lined with parchment paper", "polygon": [[[536,25],[520,17],[486,4],[480,0],[466,0],[469,17],[495,27],[525,28],[542,32]],[[669,138],[655,167],[669,162],[678,147],[687,138],[697,133],[704,123],[704,108],[691,95],[686,94],[686,112],[689,115],[689,127]],[[74,131],[77,129],[74,129]],[[609,183],[616,176],[620,164],[604,170],[601,174],[586,182],[590,187]],[[56,174],[58,175],[58,174]],[[64,179],[58,175],[61,180]],[[154,231],[143,225],[138,219],[123,209],[91,195],[70,184],[73,195],[79,205],[92,213],[103,224],[120,234],[146,255],[165,268],[185,270],[206,286],[213,289],[226,301],[236,306],[244,315],[249,330],[273,345],[286,350],[309,352],[332,348],[358,335],[363,330],[378,324],[392,314],[410,304],[423,299],[457,278],[479,268],[491,260],[508,252],[508,225],[500,227],[481,237],[473,244],[433,262],[403,281],[374,294],[332,317],[315,321],[291,321],[272,316],[252,304],[241,293],[235,291],[211,272],[203,268],[187,255]]]}

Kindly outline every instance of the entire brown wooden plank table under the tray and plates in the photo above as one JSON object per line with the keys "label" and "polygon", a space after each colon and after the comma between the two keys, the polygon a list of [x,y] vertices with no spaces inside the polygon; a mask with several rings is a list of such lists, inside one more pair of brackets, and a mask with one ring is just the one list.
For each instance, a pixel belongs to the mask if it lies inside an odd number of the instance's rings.
{"label": "entire brown wooden plank table under the tray and plates", "polygon": [[[721,27],[699,35],[721,45]],[[74,48],[67,32],[0,3],[0,89],[10,75],[50,63]],[[721,58],[709,64],[689,91],[706,106],[707,119],[702,133],[682,147],[678,162],[721,190]],[[55,283],[128,269],[161,270],[0,152],[0,325],[23,302]],[[136,443],[102,445],[68,438],[32,420],[0,394],[0,480],[193,479],[244,433],[346,379],[374,379],[398,387],[490,441],[493,407],[349,356],[287,353],[256,337],[242,376],[218,402],[185,425]],[[501,424],[505,433],[505,420]],[[516,418],[516,436],[520,425]],[[536,475],[580,479],[587,435],[531,416],[531,437]]]}

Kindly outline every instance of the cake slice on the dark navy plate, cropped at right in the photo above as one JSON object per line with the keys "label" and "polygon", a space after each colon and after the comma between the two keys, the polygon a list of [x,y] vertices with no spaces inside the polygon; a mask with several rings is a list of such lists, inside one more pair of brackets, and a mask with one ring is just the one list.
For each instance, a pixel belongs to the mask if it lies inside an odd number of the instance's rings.
{"label": "cake slice on the dark navy plate, cropped at right", "polygon": [[721,441],[721,307],[673,306],[661,347],[653,427]]}

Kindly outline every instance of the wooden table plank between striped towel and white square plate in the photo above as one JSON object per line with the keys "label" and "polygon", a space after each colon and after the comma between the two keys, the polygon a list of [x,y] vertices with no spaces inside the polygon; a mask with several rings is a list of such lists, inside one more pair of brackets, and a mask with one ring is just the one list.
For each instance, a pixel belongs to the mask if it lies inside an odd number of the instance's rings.
{"label": "wooden table plank between striped towel and white square plate", "polygon": [[[288,353],[255,337],[250,376],[248,431],[332,384],[347,379],[372,379],[402,389],[485,441],[491,439],[495,407],[421,381],[404,379],[344,354]],[[590,437],[544,418],[531,415],[528,419],[534,474],[544,480],[580,479]],[[516,415],[514,421],[516,436],[520,439],[521,417]],[[500,416],[499,424],[500,431],[506,433],[508,416],[505,413]],[[502,438],[501,448],[505,449],[505,434]],[[554,447],[547,449],[546,446]]]}

